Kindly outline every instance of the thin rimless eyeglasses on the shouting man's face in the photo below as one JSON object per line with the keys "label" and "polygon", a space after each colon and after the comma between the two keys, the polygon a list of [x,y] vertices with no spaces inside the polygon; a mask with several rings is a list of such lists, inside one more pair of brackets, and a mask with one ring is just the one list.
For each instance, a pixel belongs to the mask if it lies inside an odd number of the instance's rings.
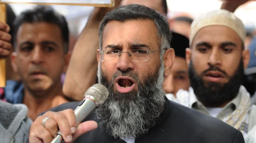
{"label": "thin rimless eyeglasses on the shouting man's face", "polygon": [[[166,48],[164,48],[166,49]],[[163,49],[161,49],[163,50]],[[157,50],[157,51],[161,51]],[[106,62],[117,61],[121,58],[121,53],[128,53],[129,57],[132,61],[147,61],[149,59],[149,53],[157,52],[157,51],[148,51],[143,49],[134,49],[129,50],[129,52],[121,52],[119,50],[102,50],[98,52],[100,54],[100,60]]]}

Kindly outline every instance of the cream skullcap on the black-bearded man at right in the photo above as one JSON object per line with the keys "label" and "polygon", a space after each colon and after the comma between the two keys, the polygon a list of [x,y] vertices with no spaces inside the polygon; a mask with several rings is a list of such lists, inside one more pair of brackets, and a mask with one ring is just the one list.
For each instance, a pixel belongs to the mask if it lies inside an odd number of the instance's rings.
{"label": "cream skullcap on the black-bearded man at right", "polygon": [[193,20],[189,36],[189,45],[191,46],[195,35],[200,29],[216,25],[231,28],[237,33],[244,43],[246,30],[242,20],[236,17],[233,12],[229,12],[227,10],[214,10],[201,14],[198,18]]}

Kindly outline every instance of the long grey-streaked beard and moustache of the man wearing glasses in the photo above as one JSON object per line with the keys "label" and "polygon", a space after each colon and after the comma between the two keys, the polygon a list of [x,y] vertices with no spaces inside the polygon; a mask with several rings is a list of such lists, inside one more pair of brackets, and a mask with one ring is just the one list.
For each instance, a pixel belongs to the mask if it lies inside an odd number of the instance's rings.
{"label": "long grey-streaked beard and moustache of the man wearing glasses", "polygon": [[[137,138],[145,134],[156,124],[163,112],[165,92],[162,89],[164,81],[164,66],[161,66],[153,75],[144,76],[140,81],[137,73],[118,71],[109,82],[101,75],[100,64],[98,79],[109,90],[109,98],[104,105],[96,110],[100,120],[100,127],[116,139]],[[128,75],[138,83],[138,90],[129,93],[114,91],[114,79],[119,75]]]}

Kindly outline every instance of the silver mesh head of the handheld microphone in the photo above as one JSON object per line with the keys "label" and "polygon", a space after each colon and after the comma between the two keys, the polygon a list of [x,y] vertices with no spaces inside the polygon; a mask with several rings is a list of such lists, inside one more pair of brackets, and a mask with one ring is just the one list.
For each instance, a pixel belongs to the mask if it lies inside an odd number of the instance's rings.
{"label": "silver mesh head of the handheld microphone", "polygon": [[86,96],[93,96],[96,99],[96,106],[101,106],[108,98],[109,91],[104,85],[97,83],[85,92],[84,97]]}

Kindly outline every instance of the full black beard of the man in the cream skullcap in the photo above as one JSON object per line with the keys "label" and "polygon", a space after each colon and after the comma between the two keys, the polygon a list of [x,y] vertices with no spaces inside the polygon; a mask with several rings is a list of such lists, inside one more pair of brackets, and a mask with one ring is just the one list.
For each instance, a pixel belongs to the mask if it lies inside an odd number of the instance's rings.
{"label": "full black beard of the man in the cream skullcap", "polygon": [[201,75],[197,75],[191,60],[188,70],[190,84],[194,89],[197,99],[201,101],[204,106],[219,107],[237,96],[244,77],[243,61],[240,61],[235,74],[230,77],[228,83],[225,84],[204,81],[202,78],[206,72],[211,70],[219,71],[226,77],[229,77],[225,71],[214,66],[202,72]]}

